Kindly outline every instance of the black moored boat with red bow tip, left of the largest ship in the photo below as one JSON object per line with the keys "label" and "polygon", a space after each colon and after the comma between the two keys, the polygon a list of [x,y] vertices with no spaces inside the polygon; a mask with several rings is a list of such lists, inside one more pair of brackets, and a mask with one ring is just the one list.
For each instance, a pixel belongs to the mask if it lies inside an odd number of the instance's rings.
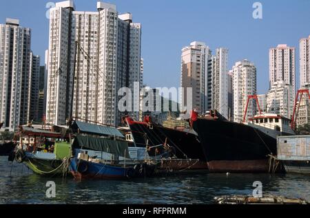
{"label": "black moored boat with red bow tip, left of the largest ship", "polygon": [[207,171],[205,153],[194,131],[169,129],[152,122],[148,116],[144,122],[134,121],[129,116],[125,117],[125,121],[136,146],[147,146],[150,157],[162,156],[165,162],[162,169],[178,171],[180,167],[174,164],[178,162],[182,163],[181,168],[187,168],[187,172]]}

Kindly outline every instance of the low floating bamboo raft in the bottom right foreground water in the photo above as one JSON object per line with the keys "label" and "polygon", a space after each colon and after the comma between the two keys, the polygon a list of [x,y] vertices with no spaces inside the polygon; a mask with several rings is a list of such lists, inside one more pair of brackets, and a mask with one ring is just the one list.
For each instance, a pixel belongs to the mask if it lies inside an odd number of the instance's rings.
{"label": "low floating bamboo raft in the bottom right foreground water", "polygon": [[224,195],[214,197],[214,200],[216,204],[310,204],[304,199],[273,195],[264,195],[262,197],[253,197],[251,195]]}

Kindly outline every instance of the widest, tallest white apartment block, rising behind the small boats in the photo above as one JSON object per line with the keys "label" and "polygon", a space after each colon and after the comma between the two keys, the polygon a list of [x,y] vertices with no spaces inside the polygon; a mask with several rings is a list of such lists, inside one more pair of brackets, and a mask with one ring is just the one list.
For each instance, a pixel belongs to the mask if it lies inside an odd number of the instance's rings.
{"label": "widest, tallest white apartment block, rising behind the small boats", "polygon": [[98,2],[97,10],[75,11],[73,1],[50,10],[48,123],[65,124],[72,113],[116,126],[121,123],[118,89],[139,86],[141,24],[132,23],[130,13],[118,15],[110,3]]}

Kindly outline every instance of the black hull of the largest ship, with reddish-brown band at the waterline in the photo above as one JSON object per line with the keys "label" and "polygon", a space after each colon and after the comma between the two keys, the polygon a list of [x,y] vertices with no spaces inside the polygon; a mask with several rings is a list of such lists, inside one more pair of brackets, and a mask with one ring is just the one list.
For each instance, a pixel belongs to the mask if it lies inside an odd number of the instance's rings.
{"label": "black hull of the largest ship, with reddish-brown band at the waterline", "polygon": [[210,172],[267,172],[276,139],[245,124],[198,119],[193,122]]}

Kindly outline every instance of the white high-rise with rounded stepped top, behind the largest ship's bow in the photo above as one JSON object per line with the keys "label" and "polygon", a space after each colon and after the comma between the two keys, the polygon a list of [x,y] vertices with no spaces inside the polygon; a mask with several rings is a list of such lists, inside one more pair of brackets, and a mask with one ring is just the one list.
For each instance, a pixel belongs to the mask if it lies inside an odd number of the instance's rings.
{"label": "white high-rise with rounded stepped top, behind the largest ship's bow", "polygon": [[[243,60],[232,68],[234,122],[242,122],[249,95],[256,94],[256,67],[254,63]],[[256,102],[249,102],[246,120],[256,114]]]}

